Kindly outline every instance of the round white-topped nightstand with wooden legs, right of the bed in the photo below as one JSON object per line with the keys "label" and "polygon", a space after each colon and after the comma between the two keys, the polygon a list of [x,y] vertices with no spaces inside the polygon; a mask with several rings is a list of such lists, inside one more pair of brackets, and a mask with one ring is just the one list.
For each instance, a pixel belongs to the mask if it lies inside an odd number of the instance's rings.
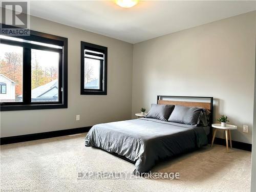
{"label": "round white-topped nightstand with wooden legs, right of the bed", "polygon": [[231,131],[230,130],[236,130],[236,129],[238,129],[238,127],[236,125],[231,125],[231,124],[227,124],[226,126],[221,126],[220,123],[212,124],[211,126],[215,128],[214,135],[212,136],[211,147],[214,144],[214,138],[216,136],[217,129],[225,130],[226,148],[227,148],[227,152],[228,152],[228,137],[229,137],[230,148],[232,148]]}

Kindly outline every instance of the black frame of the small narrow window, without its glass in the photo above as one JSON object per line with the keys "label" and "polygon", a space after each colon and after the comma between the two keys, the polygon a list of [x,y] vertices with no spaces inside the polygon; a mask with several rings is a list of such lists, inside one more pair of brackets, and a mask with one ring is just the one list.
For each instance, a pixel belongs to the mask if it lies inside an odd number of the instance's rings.
{"label": "black frame of the small narrow window, without its glass", "polygon": [[[84,55],[84,50],[96,51],[104,54],[104,60],[99,58],[87,57]],[[108,48],[81,41],[81,77],[80,77],[80,94],[81,95],[106,95],[107,94],[107,78],[108,78]],[[92,54],[99,56],[100,54]],[[100,60],[100,89],[85,89],[84,88],[84,58]]]}

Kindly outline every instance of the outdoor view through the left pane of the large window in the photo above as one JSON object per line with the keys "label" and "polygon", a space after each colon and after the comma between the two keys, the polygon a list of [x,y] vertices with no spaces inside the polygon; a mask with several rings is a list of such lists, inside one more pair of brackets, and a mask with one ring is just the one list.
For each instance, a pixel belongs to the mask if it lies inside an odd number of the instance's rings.
{"label": "outdoor view through the left pane of the large window", "polygon": [[0,44],[0,102],[23,97],[23,47]]}

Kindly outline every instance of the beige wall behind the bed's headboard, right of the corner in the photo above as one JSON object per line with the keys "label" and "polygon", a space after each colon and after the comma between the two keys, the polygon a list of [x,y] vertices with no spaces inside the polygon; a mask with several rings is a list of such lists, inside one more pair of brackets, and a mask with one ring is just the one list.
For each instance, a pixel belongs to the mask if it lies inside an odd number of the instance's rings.
{"label": "beige wall behind the bed's headboard, right of the corner", "polygon": [[255,17],[254,11],[135,44],[132,116],[157,95],[213,96],[214,121],[227,115],[238,125],[233,140],[251,143]]}

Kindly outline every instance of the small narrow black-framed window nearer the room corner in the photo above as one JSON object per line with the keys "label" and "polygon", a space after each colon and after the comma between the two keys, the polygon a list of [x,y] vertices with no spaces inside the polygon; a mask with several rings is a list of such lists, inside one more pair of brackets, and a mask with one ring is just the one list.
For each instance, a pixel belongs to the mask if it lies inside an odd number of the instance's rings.
{"label": "small narrow black-framed window nearer the room corner", "polygon": [[106,95],[108,48],[81,41],[81,94]]}

